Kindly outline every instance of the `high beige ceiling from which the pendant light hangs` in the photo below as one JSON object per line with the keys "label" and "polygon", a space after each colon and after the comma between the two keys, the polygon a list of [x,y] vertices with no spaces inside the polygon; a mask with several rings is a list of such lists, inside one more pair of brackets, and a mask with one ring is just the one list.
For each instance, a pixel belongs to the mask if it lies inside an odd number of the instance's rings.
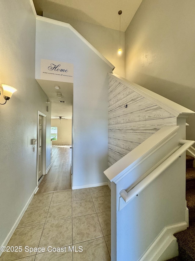
{"label": "high beige ceiling from which the pendant light hangs", "polygon": [[142,0],[33,0],[38,15],[53,13],[57,17],[74,18],[80,21],[125,32]]}

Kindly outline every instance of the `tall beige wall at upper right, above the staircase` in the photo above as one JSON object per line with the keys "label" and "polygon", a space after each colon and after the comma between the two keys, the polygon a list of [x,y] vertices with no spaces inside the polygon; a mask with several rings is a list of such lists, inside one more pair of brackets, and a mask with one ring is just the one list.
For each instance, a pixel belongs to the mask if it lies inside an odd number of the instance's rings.
{"label": "tall beige wall at upper right, above the staircase", "polygon": [[[195,2],[143,0],[125,32],[125,77],[195,110]],[[187,118],[195,140],[195,118]]]}

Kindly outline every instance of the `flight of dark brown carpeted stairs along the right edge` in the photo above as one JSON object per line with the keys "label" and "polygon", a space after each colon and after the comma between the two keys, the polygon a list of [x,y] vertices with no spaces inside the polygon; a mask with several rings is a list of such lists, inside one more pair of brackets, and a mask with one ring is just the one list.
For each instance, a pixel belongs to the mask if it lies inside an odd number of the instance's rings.
{"label": "flight of dark brown carpeted stairs along the right edge", "polygon": [[178,242],[179,256],[167,261],[195,260],[195,168],[194,157],[186,155],[186,201],[189,209],[189,227],[174,234]]}

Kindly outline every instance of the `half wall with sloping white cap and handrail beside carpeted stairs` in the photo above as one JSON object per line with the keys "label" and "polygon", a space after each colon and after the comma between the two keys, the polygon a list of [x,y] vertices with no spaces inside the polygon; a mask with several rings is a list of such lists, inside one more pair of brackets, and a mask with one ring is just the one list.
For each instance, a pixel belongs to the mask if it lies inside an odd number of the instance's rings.
{"label": "half wall with sloping white cap and handrail beside carpeted stairs", "polygon": [[185,151],[195,141],[182,139],[181,121],[181,128],[163,127],[104,172],[111,181],[113,261],[169,257],[159,245],[170,238],[174,244],[173,234],[187,228]]}

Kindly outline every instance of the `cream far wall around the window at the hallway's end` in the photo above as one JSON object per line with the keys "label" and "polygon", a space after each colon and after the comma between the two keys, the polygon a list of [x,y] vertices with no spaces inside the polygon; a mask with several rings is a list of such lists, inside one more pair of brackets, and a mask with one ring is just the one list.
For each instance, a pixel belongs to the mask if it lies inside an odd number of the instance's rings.
{"label": "cream far wall around the window at the hallway's end", "polygon": [[51,119],[51,126],[58,127],[58,140],[52,140],[52,144],[72,144],[72,120]]}

